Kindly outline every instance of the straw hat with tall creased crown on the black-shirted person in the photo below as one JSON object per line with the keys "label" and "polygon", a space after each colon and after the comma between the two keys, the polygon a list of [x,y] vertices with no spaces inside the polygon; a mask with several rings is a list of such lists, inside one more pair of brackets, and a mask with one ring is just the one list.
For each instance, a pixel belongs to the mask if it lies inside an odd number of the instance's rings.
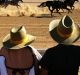
{"label": "straw hat with tall creased crown on the black-shirted person", "polygon": [[80,36],[78,25],[75,25],[73,19],[68,15],[50,22],[49,32],[56,42],[63,44],[71,44]]}

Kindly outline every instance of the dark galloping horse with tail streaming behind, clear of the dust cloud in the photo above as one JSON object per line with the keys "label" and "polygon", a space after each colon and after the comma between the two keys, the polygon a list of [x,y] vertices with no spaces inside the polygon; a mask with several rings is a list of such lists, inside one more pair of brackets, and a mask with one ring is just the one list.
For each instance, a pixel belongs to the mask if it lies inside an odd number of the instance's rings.
{"label": "dark galloping horse with tail streaming behind, clear of the dust cloud", "polygon": [[[67,8],[67,2],[64,1],[46,1],[42,2],[38,7],[48,7],[49,11],[51,12],[51,16],[53,14],[53,11],[56,9],[57,13],[61,14],[59,12],[60,9],[66,9],[68,10],[68,13],[71,12],[69,8]],[[52,8],[52,9],[51,9]]]}

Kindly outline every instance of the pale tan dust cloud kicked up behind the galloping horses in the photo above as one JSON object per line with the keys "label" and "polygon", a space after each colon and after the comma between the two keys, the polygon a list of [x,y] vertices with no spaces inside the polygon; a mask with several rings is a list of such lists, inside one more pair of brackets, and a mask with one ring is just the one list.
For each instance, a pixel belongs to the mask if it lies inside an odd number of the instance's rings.
{"label": "pale tan dust cloud kicked up behind the galloping horses", "polygon": [[48,13],[48,9],[39,8],[34,5],[20,3],[20,6],[8,5],[6,8],[0,6],[0,16],[37,16]]}

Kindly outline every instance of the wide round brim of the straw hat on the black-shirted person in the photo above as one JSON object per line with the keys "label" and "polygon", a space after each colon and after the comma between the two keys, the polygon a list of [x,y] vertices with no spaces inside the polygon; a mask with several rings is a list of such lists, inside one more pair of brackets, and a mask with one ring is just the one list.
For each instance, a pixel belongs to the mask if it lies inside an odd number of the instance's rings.
{"label": "wide round brim of the straw hat on the black-shirted person", "polygon": [[70,37],[65,39],[61,37],[57,33],[57,26],[59,25],[60,19],[53,20],[49,25],[49,32],[51,37],[57,42],[57,43],[64,43],[69,44],[77,41],[79,39],[80,33],[79,33],[79,27],[73,23],[73,31],[70,34]]}

